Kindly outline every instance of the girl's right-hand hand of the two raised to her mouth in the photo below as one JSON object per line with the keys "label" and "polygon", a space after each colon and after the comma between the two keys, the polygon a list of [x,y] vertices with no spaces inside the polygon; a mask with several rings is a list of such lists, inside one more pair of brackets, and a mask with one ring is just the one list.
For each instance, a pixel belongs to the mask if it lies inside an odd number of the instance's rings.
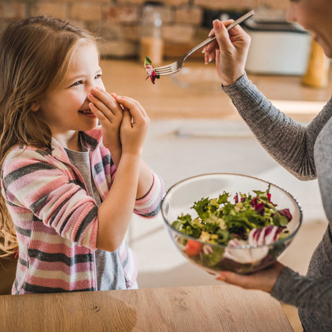
{"label": "girl's right-hand hand of the two raised to her mouth", "polygon": [[142,105],[132,98],[116,96],[123,108],[123,120],[120,127],[122,154],[142,154],[149,129],[150,119]]}

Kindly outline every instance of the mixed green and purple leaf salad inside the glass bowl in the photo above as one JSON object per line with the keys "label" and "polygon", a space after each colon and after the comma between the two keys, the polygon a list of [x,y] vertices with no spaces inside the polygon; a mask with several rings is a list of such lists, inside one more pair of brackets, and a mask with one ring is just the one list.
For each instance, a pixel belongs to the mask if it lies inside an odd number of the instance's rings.
{"label": "mixed green and purple leaf salad inside the glass bowl", "polygon": [[[201,265],[219,268],[224,261],[259,264],[267,257],[270,248],[261,245],[287,237],[292,215],[271,201],[270,185],[265,192],[252,192],[255,195],[237,193],[231,201],[224,191],[219,197],[194,202],[196,217],[179,215],[173,228],[199,240],[178,237],[185,254]],[[239,250],[239,246],[248,248]]]}

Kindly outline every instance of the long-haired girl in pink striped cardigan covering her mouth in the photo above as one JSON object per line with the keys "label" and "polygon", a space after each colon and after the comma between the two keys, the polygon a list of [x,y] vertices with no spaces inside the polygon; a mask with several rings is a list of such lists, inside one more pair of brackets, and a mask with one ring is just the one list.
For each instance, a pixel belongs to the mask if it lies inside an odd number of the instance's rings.
{"label": "long-haired girl in pink striped cardigan covering her mouth", "polygon": [[[163,183],[141,160],[149,118],[104,90],[95,39],[50,17],[0,41],[1,232],[18,245],[12,294],[137,288],[124,241]],[[101,127],[96,127],[98,120]]]}

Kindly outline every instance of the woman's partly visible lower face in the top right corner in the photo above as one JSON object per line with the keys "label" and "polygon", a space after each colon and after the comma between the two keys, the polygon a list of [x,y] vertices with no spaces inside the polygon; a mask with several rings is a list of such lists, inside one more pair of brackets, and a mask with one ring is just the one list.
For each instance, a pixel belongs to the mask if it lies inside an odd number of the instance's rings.
{"label": "woman's partly visible lower face in the top right corner", "polygon": [[286,19],[310,31],[326,56],[332,57],[331,0],[291,0]]}

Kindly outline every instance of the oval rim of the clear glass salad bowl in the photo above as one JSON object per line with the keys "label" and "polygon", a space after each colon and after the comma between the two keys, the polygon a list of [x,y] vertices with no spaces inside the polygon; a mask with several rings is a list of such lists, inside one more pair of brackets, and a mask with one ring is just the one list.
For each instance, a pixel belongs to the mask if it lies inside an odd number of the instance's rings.
{"label": "oval rim of the clear glass salad bowl", "polygon": [[[177,185],[180,185],[181,183],[186,182],[188,180],[191,180],[193,178],[201,178],[203,176],[218,176],[218,175],[244,176],[246,178],[253,178],[255,180],[259,180],[259,181],[265,182],[267,184],[270,184],[270,185],[273,185],[274,187],[279,188],[280,190],[282,190],[283,192],[285,192],[286,194],[288,194],[288,196],[291,196],[291,199],[293,199],[293,201],[295,201],[297,207],[299,208],[299,224],[297,225],[297,227],[295,228],[295,230],[291,234],[288,235],[288,237],[284,237],[283,239],[279,239],[278,241],[275,241],[273,243],[270,243],[270,244],[259,244],[259,245],[257,245],[257,244],[255,244],[255,245],[246,244],[246,245],[239,245],[239,246],[227,246],[227,245],[224,245],[224,244],[221,244],[221,243],[208,243],[208,242],[204,242],[204,241],[201,241],[199,239],[196,239],[196,237],[192,237],[192,236],[187,235],[187,234],[185,234],[183,232],[180,232],[179,230],[176,230],[176,228],[174,228],[167,221],[167,219],[165,218],[165,215],[164,215],[163,205],[164,205],[165,198],[166,198],[167,194],[169,194],[169,192],[171,190],[173,190],[174,187],[176,187]],[[272,183],[270,181],[264,180],[263,178],[258,178],[257,176],[250,176],[250,175],[239,174],[239,173],[228,173],[228,172],[225,172],[225,173],[204,173],[204,174],[199,174],[199,175],[195,175],[195,176],[190,176],[189,178],[183,178],[183,180],[178,181],[177,183],[174,183],[174,185],[172,185],[171,187],[169,187],[168,190],[166,190],[166,192],[165,192],[165,194],[163,196],[163,199],[161,201],[161,204],[160,204],[160,210],[161,210],[161,214],[163,216],[163,221],[164,221],[166,227],[172,229],[172,231],[178,233],[178,235],[181,235],[181,237],[187,237],[187,239],[194,240],[196,242],[202,243],[203,245],[212,246],[212,248],[213,247],[219,247],[219,248],[229,248],[229,249],[256,249],[256,248],[264,248],[266,246],[275,246],[276,244],[284,243],[285,241],[288,241],[288,240],[292,239],[295,236],[295,234],[299,230],[299,227],[302,225],[302,216],[303,216],[303,211],[302,211],[301,205],[299,205],[299,202],[297,201],[297,199],[295,199],[295,197],[290,192],[288,192],[284,188],[280,187],[279,185],[276,185],[275,183]]]}

